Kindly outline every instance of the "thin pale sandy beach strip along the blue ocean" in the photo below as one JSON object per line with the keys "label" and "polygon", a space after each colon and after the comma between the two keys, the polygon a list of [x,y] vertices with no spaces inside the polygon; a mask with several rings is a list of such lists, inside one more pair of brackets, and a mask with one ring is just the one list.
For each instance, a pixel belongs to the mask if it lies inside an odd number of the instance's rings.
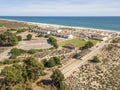
{"label": "thin pale sandy beach strip along the blue ocean", "polygon": [[47,24],[47,23],[37,23],[37,22],[29,22],[29,21],[21,21],[21,20],[12,20],[12,19],[2,19],[0,20],[6,20],[6,21],[14,21],[14,22],[22,22],[26,23],[28,25],[44,25],[44,26],[52,26],[55,28],[73,28],[73,29],[79,29],[79,30],[91,30],[91,31],[98,31],[98,32],[109,32],[109,33],[120,33],[120,31],[117,30],[107,30],[107,29],[96,29],[96,28],[87,28],[87,27],[77,27],[77,26],[66,26],[66,25],[57,25],[57,24]]}

